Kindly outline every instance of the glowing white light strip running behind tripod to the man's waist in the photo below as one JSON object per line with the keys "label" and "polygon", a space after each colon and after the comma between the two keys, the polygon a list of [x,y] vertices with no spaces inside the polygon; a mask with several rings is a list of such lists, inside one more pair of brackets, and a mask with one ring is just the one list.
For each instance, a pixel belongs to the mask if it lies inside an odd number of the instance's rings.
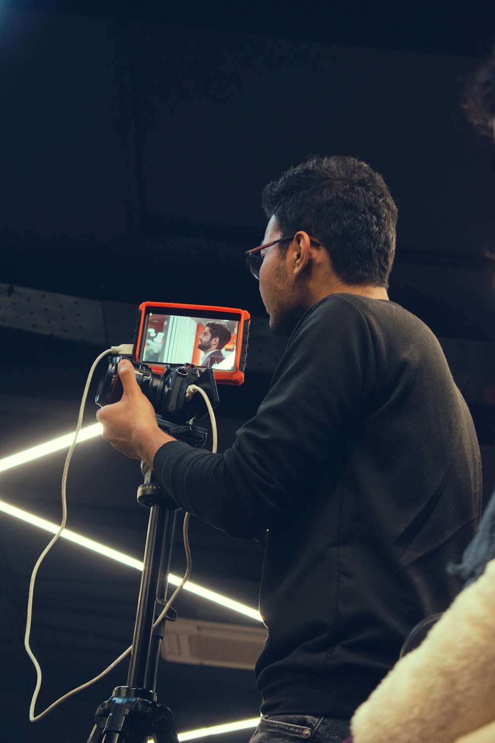
{"label": "glowing white light strip running behind tripod to the man's waist", "polygon": [[[33,513],[22,510],[22,508],[17,508],[16,506],[11,505],[10,503],[6,503],[5,501],[0,501],[0,512],[8,513],[9,516],[15,516],[16,519],[22,519],[22,521],[25,521],[28,524],[37,526],[38,528],[44,529],[45,531],[50,531],[53,534],[59,531],[59,525],[53,524],[46,519],[40,519],[39,516],[34,516]],[[111,547],[107,547],[106,545],[102,545],[100,542],[95,542],[94,539],[88,539],[87,536],[82,536],[82,534],[71,531],[71,529],[64,529],[60,536],[64,539],[68,539],[69,542],[74,542],[76,545],[80,545],[81,547],[85,547],[88,550],[97,552],[104,557],[110,557],[110,559],[117,560],[117,562],[122,562],[122,565],[128,565],[128,567],[130,568],[136,568],[136,570],[142,571],[142,562],[140,562],[140,560],[137,560],[134,557],[130,557],[129,555],[126,555],[123,552],[119,552],[118,550],[114,550]],[[179,585],[179,583],[182,581],[182,578],[178,577],[177,575],[170,574],[168,576],[168,580],[171,585]],[[217,594],[216,591],[210,591],[209,588],[203,588],[203,586],[197,585],[197,583],[192,583],[191,581],[189,581],[184,586],[183,591],[191,591],[191,593],[196,594],[196,596],[200,596],[204,599],[208,599],[209,601],[213,601],[214,603],[220,604],[220,606],[225,606],[226,609],[237,611],[239,614],[243,614],[245,617],[256,619],[259,622],[263,621],[261,619],[260,612],[256,609],[252,609],[250,606],[246,606],[246,604],[240,603],[239,601],[235,601],[233,599],[229,599],[226,596],[222,596],[222,594]]]}

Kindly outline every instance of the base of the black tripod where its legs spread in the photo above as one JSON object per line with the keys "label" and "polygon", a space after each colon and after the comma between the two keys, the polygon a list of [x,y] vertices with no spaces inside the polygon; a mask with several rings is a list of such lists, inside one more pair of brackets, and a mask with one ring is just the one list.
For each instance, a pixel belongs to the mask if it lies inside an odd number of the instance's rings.
{"label": "base of the black tripod where its legs spread", "polygon": [[145,689],[117,687],[96,710],[95,721],[88,743],[178,743],[171,711]]}

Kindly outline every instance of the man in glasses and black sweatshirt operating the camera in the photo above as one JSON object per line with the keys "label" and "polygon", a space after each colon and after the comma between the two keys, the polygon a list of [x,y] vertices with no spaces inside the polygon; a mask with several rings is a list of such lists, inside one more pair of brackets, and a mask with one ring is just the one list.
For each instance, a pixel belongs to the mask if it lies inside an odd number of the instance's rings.
{"label": "man in glasses and black sweatshirt operating the camera", "polygon": [[479,449],[439,343],[388,301],[397,212],[381,176],[312,158],[263,207],[249,267],[289,342],[232,448],[161,432],[125,362],[99,420],[186,510],[232,536],[269,530],[254,740],[338,742],[410,629],[459,590],[445,568],[476,528]]}

